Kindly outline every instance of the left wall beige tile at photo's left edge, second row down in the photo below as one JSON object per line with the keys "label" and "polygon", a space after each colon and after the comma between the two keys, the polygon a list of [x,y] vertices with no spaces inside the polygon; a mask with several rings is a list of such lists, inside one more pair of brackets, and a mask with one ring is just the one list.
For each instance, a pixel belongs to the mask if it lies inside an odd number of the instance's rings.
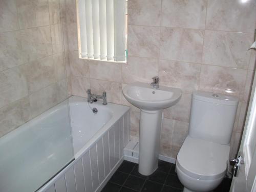
{"label": "left wall beige tile at photo's left edge, second row down", "polygon": [[0,71],[22,63],[22,48],[16,32],[0,33]]}

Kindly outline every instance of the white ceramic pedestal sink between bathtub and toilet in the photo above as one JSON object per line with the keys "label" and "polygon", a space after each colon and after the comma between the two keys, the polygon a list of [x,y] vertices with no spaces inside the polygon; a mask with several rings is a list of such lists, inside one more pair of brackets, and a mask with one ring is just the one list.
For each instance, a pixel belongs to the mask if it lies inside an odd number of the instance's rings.
{"label": "white ceramic pedestal sink between bathtub and toilet", "polygon": [[139,173],[151,175],[158,167],[162,111],[180,100],[181,90],[134,82],[124,87],[123,95],[140,108]]}

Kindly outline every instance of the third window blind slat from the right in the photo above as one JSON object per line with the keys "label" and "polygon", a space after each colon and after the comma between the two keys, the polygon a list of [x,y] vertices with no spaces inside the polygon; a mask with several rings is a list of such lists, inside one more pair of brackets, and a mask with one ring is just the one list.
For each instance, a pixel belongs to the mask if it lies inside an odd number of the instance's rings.
{"label": "third window blind slat from the right", "polygon": [[106,59],[106,0],[99,0],[100,59]]}

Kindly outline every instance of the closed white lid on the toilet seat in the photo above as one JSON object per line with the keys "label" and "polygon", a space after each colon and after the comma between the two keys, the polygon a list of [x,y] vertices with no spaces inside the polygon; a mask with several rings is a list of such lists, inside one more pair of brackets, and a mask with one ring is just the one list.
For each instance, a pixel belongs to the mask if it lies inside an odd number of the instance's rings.
{"label": "closed white lid on the toilet seat", "polygon": [[177,165],[186,175],[212,180],[225,175],[230,146],[187,136],[177,156]]}

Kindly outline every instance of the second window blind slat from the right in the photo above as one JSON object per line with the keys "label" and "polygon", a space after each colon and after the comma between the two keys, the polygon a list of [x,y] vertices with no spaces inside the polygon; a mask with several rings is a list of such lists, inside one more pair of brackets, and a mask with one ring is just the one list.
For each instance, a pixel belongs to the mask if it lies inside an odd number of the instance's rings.
{"label": "second window blind slat from the right", "polygon": [[106,0],[106,45],[107,59],[114,58],[114,0]]}

